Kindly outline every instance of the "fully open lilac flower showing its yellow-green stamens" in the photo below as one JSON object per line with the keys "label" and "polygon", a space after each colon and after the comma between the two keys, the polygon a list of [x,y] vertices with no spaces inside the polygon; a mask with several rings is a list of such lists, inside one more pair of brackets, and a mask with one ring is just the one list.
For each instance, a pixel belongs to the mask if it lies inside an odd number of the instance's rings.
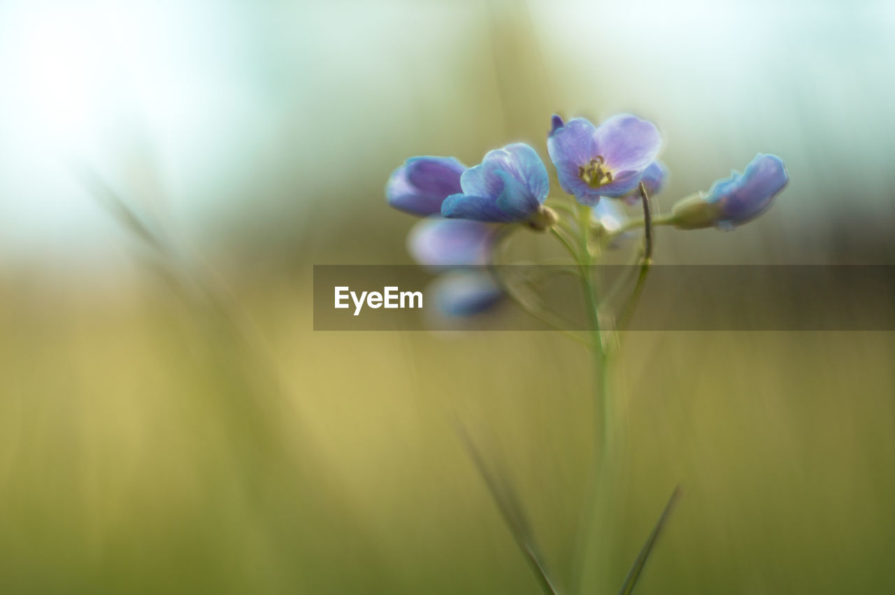
{"label": "fully open lilac flower showing its yellow-green stamens", "polygon": [[635,115],[613,115],[600,126],[584,118],[564,123],[554,115],[547,151],[562,189],[593,206],[601,196],[618,198],[633,191],[661,144],[655,125]]}

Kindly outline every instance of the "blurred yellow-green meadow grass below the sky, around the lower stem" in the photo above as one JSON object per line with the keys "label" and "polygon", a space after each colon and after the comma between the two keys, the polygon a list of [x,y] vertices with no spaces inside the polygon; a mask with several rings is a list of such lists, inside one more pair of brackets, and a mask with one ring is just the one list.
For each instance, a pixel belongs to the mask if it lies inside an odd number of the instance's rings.
{"label": "blurred yellow-green meadow grass below the sky, around the lower stem", "polygon": [[[565,582],[591,411],[562,337],[313,333],[307,288],[278,283],[237,292],[258,347],[151,285],[5,289],[4,589],[537,592],[454,416]],[[890,591],[893,353],[886,333],[632,334],[609,584],[680,481],[641,592]]]}

